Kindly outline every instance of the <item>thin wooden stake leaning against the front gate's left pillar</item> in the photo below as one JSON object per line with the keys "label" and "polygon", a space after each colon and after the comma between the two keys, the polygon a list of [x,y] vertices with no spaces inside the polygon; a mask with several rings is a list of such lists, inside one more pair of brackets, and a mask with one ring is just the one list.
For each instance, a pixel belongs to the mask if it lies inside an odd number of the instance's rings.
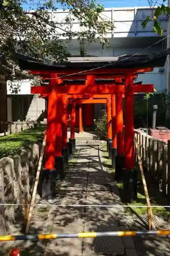
{"label": "thin wooden stake leaning against the front gate's left pillar", "polygon": [[36,195],[36,191],[37,191],[37,185],[38,185],[45,145],[46,145],[46,135],[44,136],[44,139],[43,139],[41,154],[40,154],[38,168],[37,168],[37,174],[36,174],[36,178],[35,178],[35,182],[34,182],[33,193],[32,193],[32,197],[31,197],[31,203],[30,203],[29,214],[28,214],[28,220],[27,220],[27,225],[26,225],[26,234],[28,234],[29,228],[30,228],[31,216],[33,213],[33,208],[34,208],[33,205],[34,205],[34,201],[35,201],[35,195]]}

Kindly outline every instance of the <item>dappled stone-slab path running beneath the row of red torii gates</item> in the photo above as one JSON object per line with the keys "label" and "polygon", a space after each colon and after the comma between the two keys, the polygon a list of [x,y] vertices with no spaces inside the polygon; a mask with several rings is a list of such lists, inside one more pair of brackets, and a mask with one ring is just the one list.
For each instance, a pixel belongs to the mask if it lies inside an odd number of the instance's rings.
{"label": "dappled stone-slab path running beneath the row of red torii gates", "polygon": [[[101,145],[79,145],[78,160],[60,185],[57,203],[99,205],[99,207],[55,207],[44,223],[43,232],[118,231],[128,229],[123,208],[100,205],[120,204],[109,174],[102,165]],[[127,223],[128,224],[128,223]],[[132,238],[61,239],[39,241],[36,255],[137,255]]]}

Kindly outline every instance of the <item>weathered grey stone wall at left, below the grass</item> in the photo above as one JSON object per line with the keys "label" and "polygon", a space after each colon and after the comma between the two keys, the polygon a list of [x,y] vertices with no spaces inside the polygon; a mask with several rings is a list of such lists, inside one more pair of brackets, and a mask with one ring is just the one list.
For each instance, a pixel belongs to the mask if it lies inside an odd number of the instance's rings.
{"label": "weathered grey stone wall at left, below the grass", "polygon": [[20,231],[24,220],[25,199],[31,200],[34,178],[41,151],[41,142],[15,155],[0,160],[0,235],[15,234]]}

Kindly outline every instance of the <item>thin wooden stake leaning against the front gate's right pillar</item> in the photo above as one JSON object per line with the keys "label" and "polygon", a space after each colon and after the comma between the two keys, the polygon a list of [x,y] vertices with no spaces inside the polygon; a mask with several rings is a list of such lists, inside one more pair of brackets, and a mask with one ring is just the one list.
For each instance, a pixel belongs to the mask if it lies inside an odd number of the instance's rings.
{"label": "thin wooden stake leaning against the front gate's right pillar", "polygon": [[[147,199],[147,205],[151,206],[150,199],[149,199],[149,194],[148,194],[147,183],[146,183],[145,178],[144,178],[142,162],[141,162],[141,158],[140,158],[140,154],[139,154],[139,150],[138,150],[137,140],[136,140],[136,138],[134,138],[134,140],[135,140],[136,154],[137,154],[137,158],[138,158],[138,163],[139,163],[139,168],[140,168],[140,173],[141,173],[141,178],[142,178],[142,183],[143,183],[143,188],[144,188],[144,194],[145,194],[145,197]],[[154,224],[154,221],[153,221],[152,208],[148,207],[147,209],[148,209],[149,230],[155,229],[155,224]]]}

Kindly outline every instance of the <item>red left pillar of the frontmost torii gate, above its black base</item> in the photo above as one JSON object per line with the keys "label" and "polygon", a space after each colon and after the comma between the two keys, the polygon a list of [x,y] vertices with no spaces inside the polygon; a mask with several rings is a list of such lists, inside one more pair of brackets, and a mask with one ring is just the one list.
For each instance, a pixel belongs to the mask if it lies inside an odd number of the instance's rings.
{"label": "red left pillar of the frontmost torii gate, above its black base", "polygon": [[[55,78],[55,74],[51,74]],[[54,79],[50,80],[51,92],[48,95],[46,147],[45,147],[45,169],[54,170],[55,147],[56,147],[56,121],[57,121],[57,92],[52,89]]]}

